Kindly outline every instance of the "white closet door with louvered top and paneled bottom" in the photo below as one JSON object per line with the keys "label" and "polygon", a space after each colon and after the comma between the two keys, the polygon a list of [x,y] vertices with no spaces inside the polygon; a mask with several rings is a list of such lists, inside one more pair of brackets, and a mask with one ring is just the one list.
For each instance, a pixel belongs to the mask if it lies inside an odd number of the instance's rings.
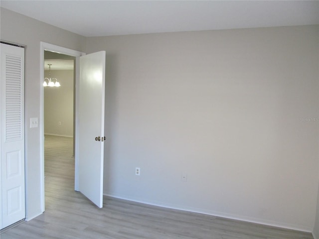
{"label": "white closet door with louvered top and paneled bottom", "polygon": [[24,48],[0,47],[0,229],[25,218]]}

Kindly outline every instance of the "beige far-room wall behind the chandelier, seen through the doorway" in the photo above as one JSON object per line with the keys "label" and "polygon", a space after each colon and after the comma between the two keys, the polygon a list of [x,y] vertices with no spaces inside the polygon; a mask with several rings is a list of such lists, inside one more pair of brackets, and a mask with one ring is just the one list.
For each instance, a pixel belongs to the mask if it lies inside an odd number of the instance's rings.
{"label": "beige far-room wall behind the chandelier, seen through the doorway", "polygon": [[44,88],[44,133],[73,137],[73,70],[52,70],[51,77],[61,87]]}

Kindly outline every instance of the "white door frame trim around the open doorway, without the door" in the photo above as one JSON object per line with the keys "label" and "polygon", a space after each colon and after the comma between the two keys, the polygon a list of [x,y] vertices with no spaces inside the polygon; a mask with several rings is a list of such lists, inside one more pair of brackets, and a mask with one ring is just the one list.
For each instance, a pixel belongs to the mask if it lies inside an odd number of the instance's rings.
{"label": "white door frame trim around the open doorway, without the door", "polygon": [[79,168],[78,168],[78,150],[79,150],[79,140],[78,140],[78,102],[79,102],[79,65],[80,65],[80,56],[84,56],[84,52],[72,50],[69,48],[53,45],[46,42],[40,42],[40,186],[41,186],[41,210],[45,211],[45,195],[44,195],[44,88],[42,87],[44,79],[44,51],[52,51],[64,55],[74,56],[75,57],[75,165],[74,165],[74,190],[78,191],[79,189]]}

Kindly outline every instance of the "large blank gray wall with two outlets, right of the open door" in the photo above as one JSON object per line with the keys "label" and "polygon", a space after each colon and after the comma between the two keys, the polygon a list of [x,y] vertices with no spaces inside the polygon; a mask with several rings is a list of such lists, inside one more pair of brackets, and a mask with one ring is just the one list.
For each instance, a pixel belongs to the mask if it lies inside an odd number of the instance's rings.
{"label": "large blank gray wall with two outlets, right of the open door", "polygon": [[296,26],[88,38],[87,53],[107,52],[105,194],[312,231],[318,36]]}

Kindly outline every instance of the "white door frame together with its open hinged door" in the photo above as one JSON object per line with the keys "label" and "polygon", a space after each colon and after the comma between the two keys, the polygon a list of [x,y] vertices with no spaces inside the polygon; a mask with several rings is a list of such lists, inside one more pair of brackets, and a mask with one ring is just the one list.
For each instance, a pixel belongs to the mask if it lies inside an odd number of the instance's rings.
{"label": "white door frame together with its open hinged door", "polygon": [[[103,206],[104,162],[104,104],[106,52],[86,55],[64,47],[41,42],[40,69],[44,69],[44,51],[75,58],[75,158],[74,190],[79,191],[96,206]],[[81,61],[81,69],[79,67]],[[44,71],[40,71],[43,85]],[[81,86],[80,86],[81,85]],[[40,149],[41,149],[41,209],[45,210],[44,186],[44,86],[41,87]],[[81,95],[81,97],[80,97]],[[97,102],[99,104],[97,104]],[[90,114],[88,114],[90,113]],[[98,121],[98,122],[96,122]],[[79,125],[81,122],[81,125]],[[61,122],[62,123],[62,122]],[[90,127],[88,127],[90,126]],[[81,135],[81,137],[79,136]],[[99,136],[100,135],[100,136]],[[95,140],[94,140],[95,138]],[[88,142],[85,140],[89,140]],[[81,157],[80,157],[81,156]],[[80,182],[81,181],[81,182]],[[81,188],[80,188],[81,186]],[[80,189],[79,189],[80,188]]]}

